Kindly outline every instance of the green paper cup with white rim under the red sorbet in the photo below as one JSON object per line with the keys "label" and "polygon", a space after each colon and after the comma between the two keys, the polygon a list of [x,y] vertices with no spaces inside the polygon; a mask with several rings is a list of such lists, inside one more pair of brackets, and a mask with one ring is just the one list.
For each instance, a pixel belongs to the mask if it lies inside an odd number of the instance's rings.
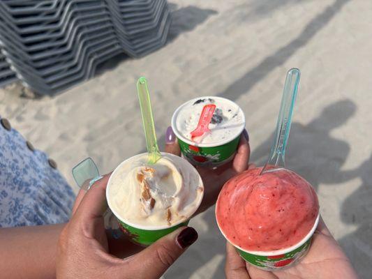
{"label": "green paper cup with white rim under the red sorbet", "polygon": [[[217,211],[216,211],[217,212]],[[240,257],[242,257],[246,262],[252,264],[253,266],[257,267],[258,269],[262,269],[265,271],[277,271],[279,269],[286,269],[297,262],[299,262],[308,252],[308,249],[311,246],[311,239],[313,238],[313,234],[315,232],[316,227],[318,227],[320,218],[320,213],[318,213],[318,217],[315,220],[315,223],[310,232],[299,241],[299,243],[291,246],[289,248],[275,250],[275,251],[249,251],[239,248],[239,246],[235,245],[227,236],[223,233],[220,225],[217,225],[220,229],[225,239],[227,239],[239,252]]]}

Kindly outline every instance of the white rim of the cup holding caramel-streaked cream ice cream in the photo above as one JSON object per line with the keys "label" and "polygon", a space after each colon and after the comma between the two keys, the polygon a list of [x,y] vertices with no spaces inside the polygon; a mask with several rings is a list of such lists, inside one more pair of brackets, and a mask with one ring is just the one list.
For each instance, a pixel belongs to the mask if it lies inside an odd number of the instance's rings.
{"label": "white rim of the cup holding caramel-streaked cream ice cream", "polygon": [[108,205],[109,209],[112,211],[112,213],[114,213],[114,216],[115,216],[116,218],[118,218],[122,223],[125,223],[126,225],[129,225],[129,226],[134,227],[134,228],[136,228],[136,229],[143,229],[143,230],[147,230],[147,231],[158,231],[158,230],[161,230],[161,229],[170,229],[170,228],[175,227],[175,226],[177,226],[177,225],[179,225],[179,224],[181,224],[181,223],[185,223],[185,222],[187,222],[187,220],[190,220],[191,217],[193,216],[193,214],[194,214],[194,213],[199,209],[200,204],[202,203],[202,199],[203,199],[203,197],[204,197],[204,183],[203,183],[203,181],[202,181],[202,178],[201,178],[199,172],[195,169],[195,167],[194,167],[193,165],[191,165],[191,163],[188,162],[188,160],[186,160],[186,159],[184,159],[184,158],[181,158],[181,157],[179,157],[179,156],[176,156],[176,155],[174,155],[174,154],[172,154],[172,153],[168,153],[168,152],[161,152],[161,153],[162,153],[162,154],[170,155],[171,157],[174,156],[174,157],[180,158],[181,160],[185,160],[185,161],[188,163],[188,165],[190,165],[190,166],[194,169],[195,173],[198,174],[198,177],[199,177],[199,180],[200,180],[200,185],[201,185],[202,188],[203,188],[202,195],[201,195],[201,197],[200,197],[200,199],[199,199],[199,201],[198,201],[198,204],[197,204],[198,206],[195,206],[195,210],[192,211],[192,213],[191,213],[191,215],[190,215],[189,218],[181,219],[181,220],[177,221],[176,223],[172,224],[171,226],[168,226],[168,225],[161,225],[161,226],[136,225],[136,224],[134,224],[134,223],[129,222],[128,220],[124,220],[124,218],[121,218],[120,215],[117,213],[117,211],[115,211],[115,210],[112,208],[112,206],[110,206],[110,204],[111,204],[111,202],[110,202],[110,197],[109,197],[109,189],[110,189],[110,185],[111,185],[110,182],[111,182],[111,179],[112,179],[113,174],[115,174],[115,172],[118,171],[118,169],[121,167],[121,165],[124,165],[128,160],[131,160],[133,157],[136,157],[136,156],[142,156],[142,155],[144,155],[144,154],[147,154],[147,153],[139,153],[139,154],[137,154],[137,155],[135,155],[135,156],[131,156],[130,158],[127,158],[126,160],[122,161],[122,162],[121,162],[121,163],[120,163],[120,164],[119,164],[119,165],[114,169],[114,171],[113,171],[112,174],[110,175],[110,178],[109,178],[108,181],[107,181],[107,188],[106,188],[106,200],[107,200],[107,205]]}

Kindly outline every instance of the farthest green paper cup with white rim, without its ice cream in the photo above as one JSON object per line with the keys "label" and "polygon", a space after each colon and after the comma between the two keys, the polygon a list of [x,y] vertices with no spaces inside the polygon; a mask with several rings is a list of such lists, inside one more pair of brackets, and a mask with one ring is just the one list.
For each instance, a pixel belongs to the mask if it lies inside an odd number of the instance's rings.
{"label": "farthest green paper cup with white rim, without its ice cream", "polygon": [[[222,103],[228,103],[234,107],[237,107],[237,114],[241,117],[241,124],[239,128],[232,128],[233,133],[228,133],[224,138],[218,140],[216,143],[197,143],[189,140],[185,137],[177,126],[177,118],[185,107],[198,102],[198,100],[203,99],[214,99]],[[218,165],[223,165],[228,163],[232,158],[234,158],[237,151],[237,146],[239,144],[240,135],[245,127],[245,116],[241,108],[232,100],[228,100],[222,97],[215,96],[204,96],[189,100],[184,103],[174,112],[172,116],[172,129],[179,142],[179,147],[181,153],[191,164],[202,165],[206,167],[217,167]],[[196,127],[195,127],[196,128]],[[211,130],[213,133],[213,130]]]}

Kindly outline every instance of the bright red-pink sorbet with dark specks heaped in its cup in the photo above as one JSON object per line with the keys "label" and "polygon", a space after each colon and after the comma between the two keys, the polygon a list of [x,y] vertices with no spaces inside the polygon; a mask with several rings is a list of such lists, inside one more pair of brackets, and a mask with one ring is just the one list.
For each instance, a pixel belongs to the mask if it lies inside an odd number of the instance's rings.
{"label": "bright red-pink sorbet with dark specks heaped in its cup", "polygon": [[294,246],[318,217],[313,187],[288,169],[260,175],[249,169],[230,179],[218,196],[216,218],[225,237],[248,251]]}

